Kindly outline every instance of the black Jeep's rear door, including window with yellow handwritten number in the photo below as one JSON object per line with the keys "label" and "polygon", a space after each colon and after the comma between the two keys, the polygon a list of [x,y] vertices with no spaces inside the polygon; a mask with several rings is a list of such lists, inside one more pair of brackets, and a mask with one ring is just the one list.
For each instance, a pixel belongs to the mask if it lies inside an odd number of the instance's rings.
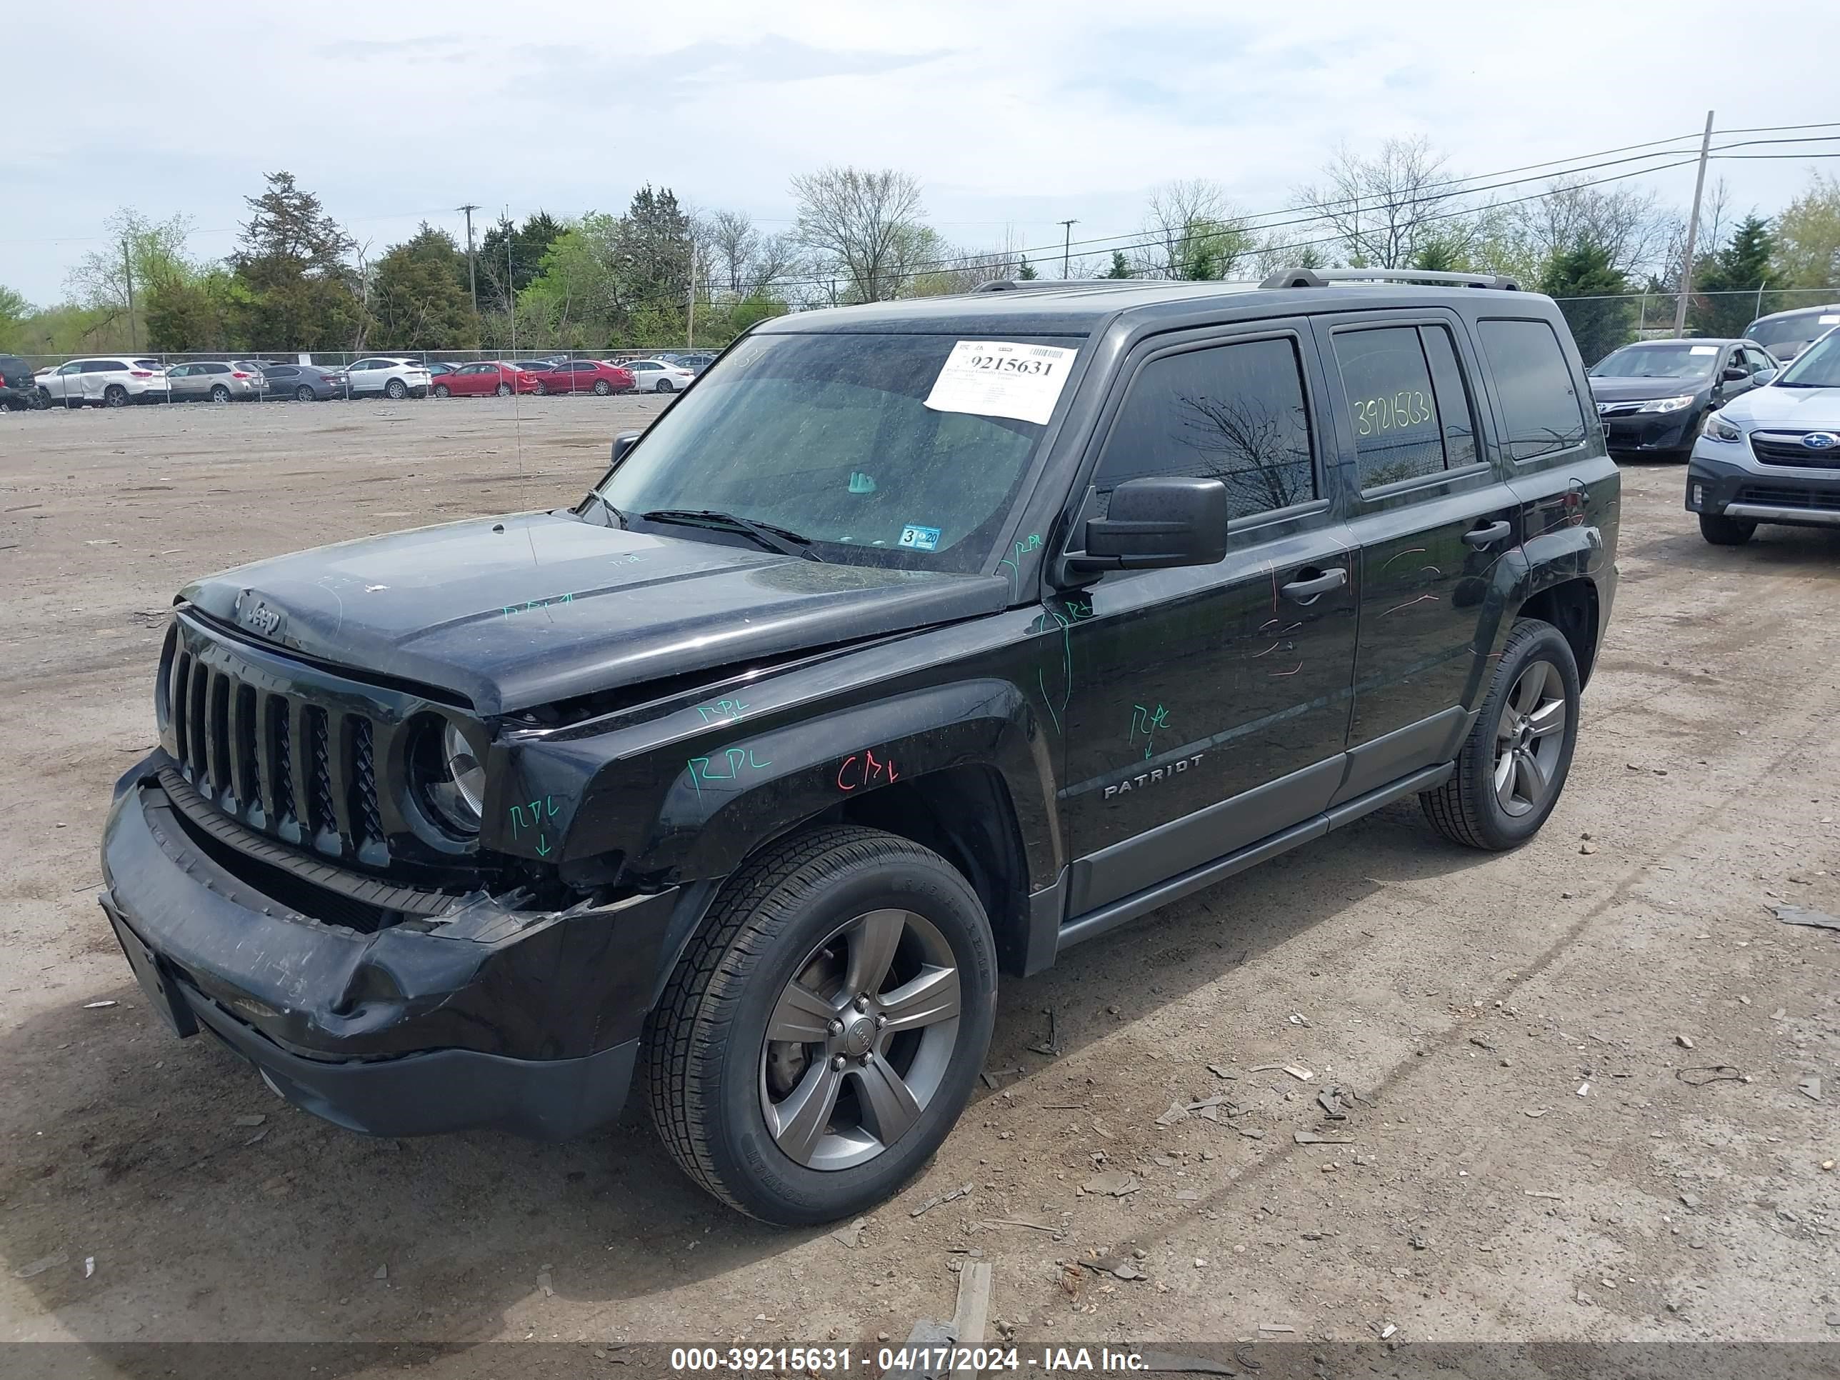
{"label": "black Jeep's rear door, including window with yellow handwritten number", "polygon": [[1479,436],[1478,362],[1448,309],[1316,318],[1352,477],[1362,615],[1338,800],[1446,762],[1468,727],[1500,611],[1490,572],[1520,502]]}

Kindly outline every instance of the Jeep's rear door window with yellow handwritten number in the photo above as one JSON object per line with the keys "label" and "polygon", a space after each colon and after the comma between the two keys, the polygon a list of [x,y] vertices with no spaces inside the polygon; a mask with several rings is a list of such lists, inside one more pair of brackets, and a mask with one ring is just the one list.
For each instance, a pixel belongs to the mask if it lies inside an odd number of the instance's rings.
{"label": "Jeep's rear door window with yellow handwritten number", "polygon": [[1476,429],[1450,331],[1336,331],[1336,364],[1363,489],[1476,464]]}

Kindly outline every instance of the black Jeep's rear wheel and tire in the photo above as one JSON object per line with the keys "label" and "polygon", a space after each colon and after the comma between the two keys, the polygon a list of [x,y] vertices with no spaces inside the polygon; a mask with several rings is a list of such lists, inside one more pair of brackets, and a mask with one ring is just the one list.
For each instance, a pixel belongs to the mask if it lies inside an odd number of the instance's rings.
{"label": "black Jeep's rear wheel and tire", "polygon": [[1566,789],[1579,740],[1579,662],[1564,633],[1514,624],[1476,725],[1443,786],[1419,804],[1452,843],[1503,852],[1546,822]]}

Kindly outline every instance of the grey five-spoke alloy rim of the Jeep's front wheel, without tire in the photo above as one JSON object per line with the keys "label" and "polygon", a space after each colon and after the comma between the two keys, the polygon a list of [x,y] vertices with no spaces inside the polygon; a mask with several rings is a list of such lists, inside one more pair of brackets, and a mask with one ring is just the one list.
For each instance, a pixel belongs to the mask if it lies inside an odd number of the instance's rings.
{"label": "grey five-spoke alloy rim of the Jeep's front wheel, without tire", "polygon": [[839,926],[780,992],[760,1113],[789,1159],[839,1170],[883,1154],[938,1095],[959,1038],[959,966],[913,911]]}

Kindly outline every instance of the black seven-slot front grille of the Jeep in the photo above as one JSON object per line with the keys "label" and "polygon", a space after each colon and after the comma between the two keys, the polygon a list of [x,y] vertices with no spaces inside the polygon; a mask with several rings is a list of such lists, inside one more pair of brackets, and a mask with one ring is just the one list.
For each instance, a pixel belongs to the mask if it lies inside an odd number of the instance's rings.
{"label": "black seven-slot front grille of the Jeep", "polygon": [[254,670],[245,679],[208,664],[184,637],[167,677],[169,747],[201,797],[287,843],[388,863],[368,714],[270,690]]}

